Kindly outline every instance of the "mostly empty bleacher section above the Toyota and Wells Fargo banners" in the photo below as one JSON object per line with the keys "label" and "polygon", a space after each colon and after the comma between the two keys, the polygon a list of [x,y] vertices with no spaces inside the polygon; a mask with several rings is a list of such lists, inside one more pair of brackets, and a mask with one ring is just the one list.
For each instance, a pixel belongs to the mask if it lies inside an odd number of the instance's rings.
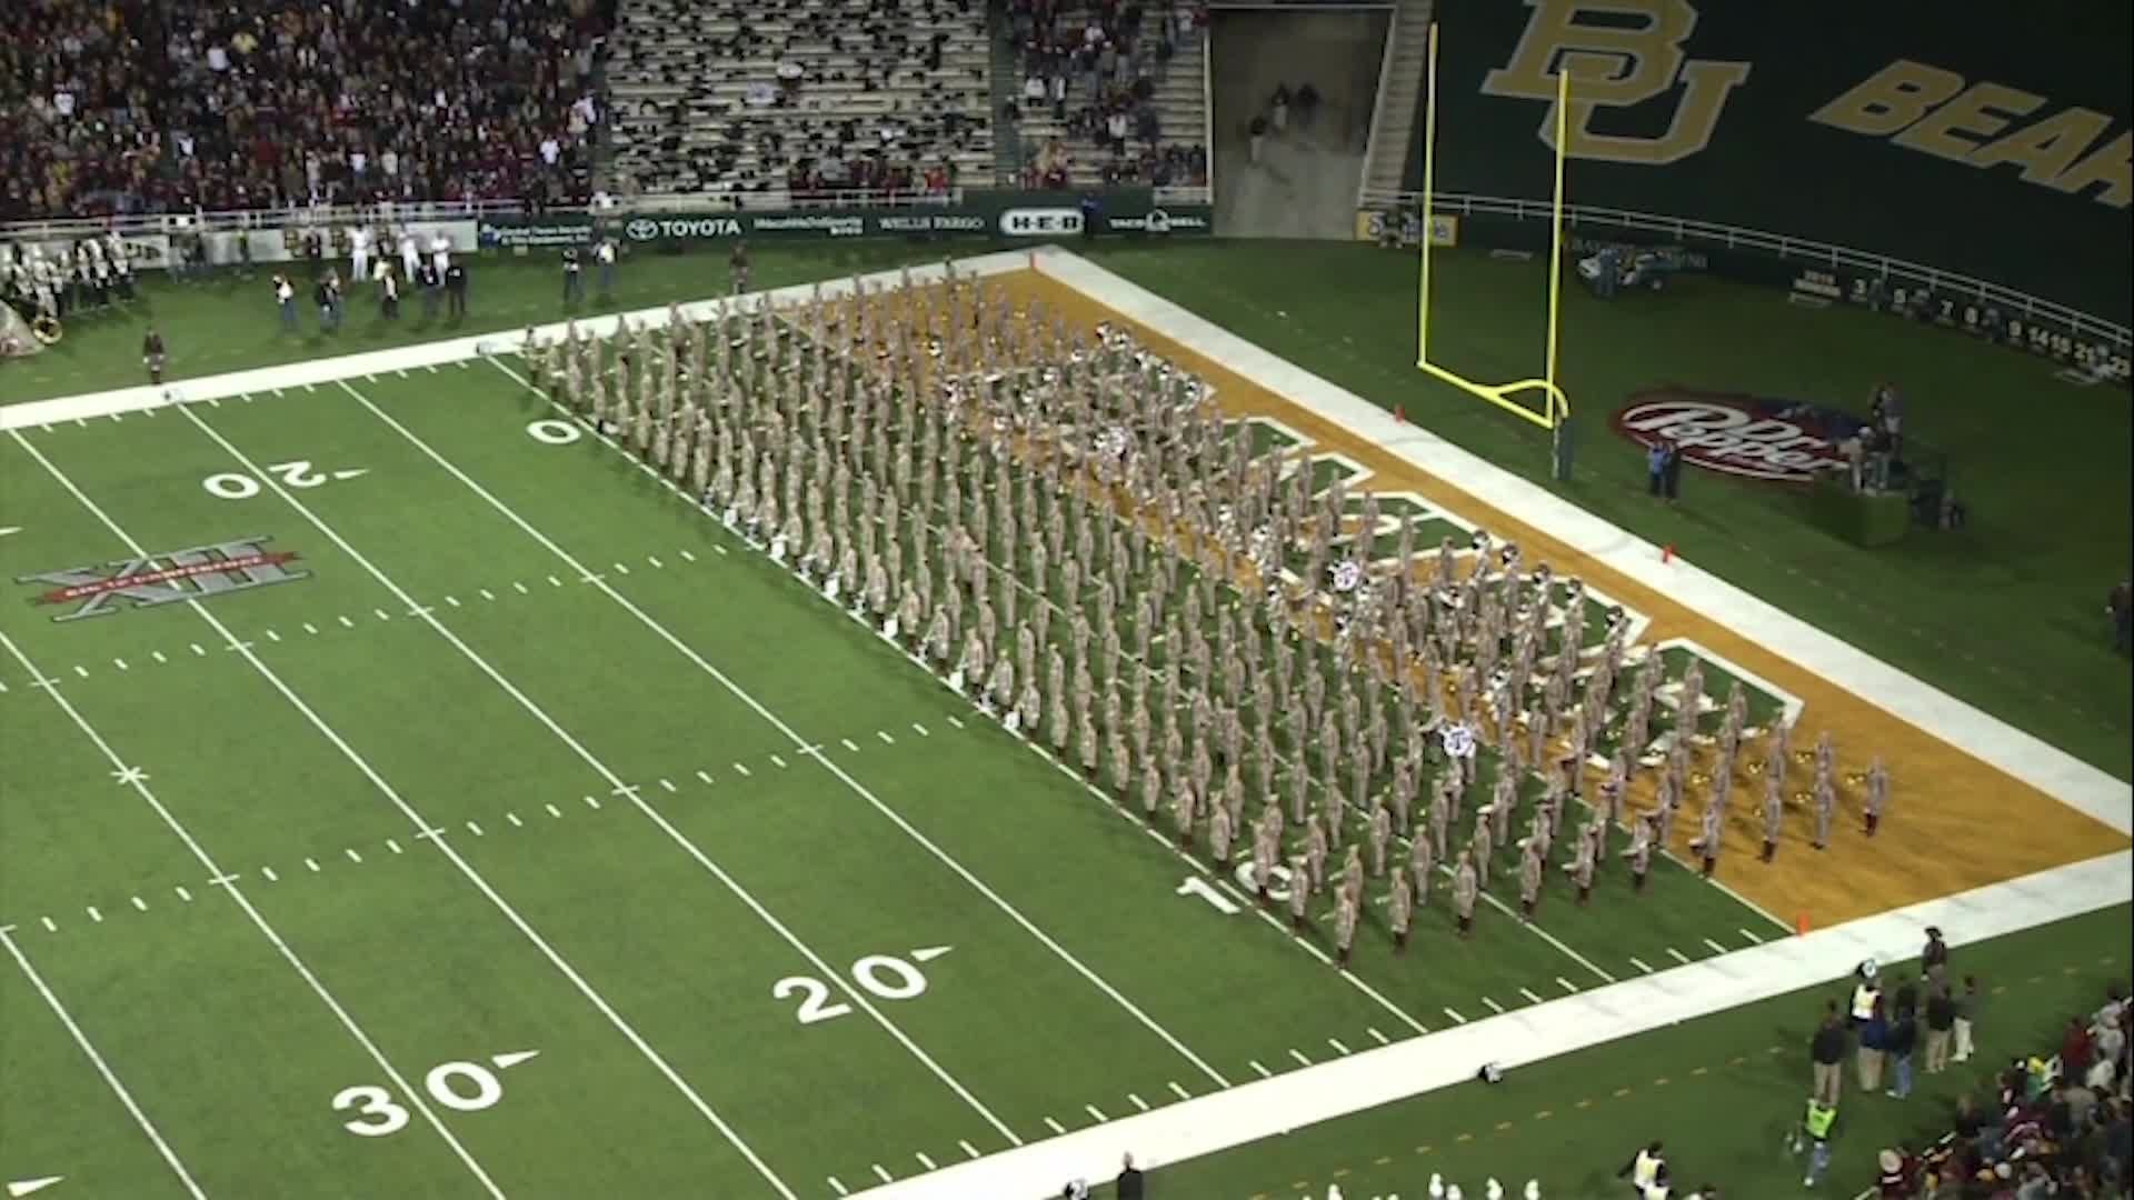
{"label": "mostly empty bleacher section above the Toyota and Wells Fargo banners", "polygon": [[738,207],[990,184],[988,51],[975,0],[623,0],[615,190]]}

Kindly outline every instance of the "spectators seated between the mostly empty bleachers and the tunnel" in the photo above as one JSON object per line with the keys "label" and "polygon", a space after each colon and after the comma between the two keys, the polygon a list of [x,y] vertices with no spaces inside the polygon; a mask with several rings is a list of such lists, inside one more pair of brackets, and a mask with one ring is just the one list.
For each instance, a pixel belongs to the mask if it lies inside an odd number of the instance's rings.
{"label": "spectators seated between the mostly empty bleachers and the tunnel", "polygon": [[[1140,0],[1093,0],[1065,9],[1058,0],[1012,0],[1009,30],[1020,62],[1022,94],[1005,117],[1044,117],[1103,184],[1206,184],[1208,152],[1195,143],[1167,143],[1157,111],[1157,81],[1193,38],[1206,34],[1206,6],[1144,11]],[[1071,149],[1050,141],[1024,162],[1024,186],[1052,186],[1071,175]]]}

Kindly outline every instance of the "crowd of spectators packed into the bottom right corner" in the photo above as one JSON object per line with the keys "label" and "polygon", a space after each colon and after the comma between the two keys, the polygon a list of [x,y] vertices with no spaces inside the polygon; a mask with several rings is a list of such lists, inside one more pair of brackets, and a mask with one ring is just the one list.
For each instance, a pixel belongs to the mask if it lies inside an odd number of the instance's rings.
{"label": "crowd of spectators packed into the bottom right corner", "polygon": [[1963,1095],[1931,1149],[1882,1155],[1882,1198],[2102,1200],[2134,1189],[2130,1038],[2123,986],[2070,1016],[2051,1055],[2014,1059],[1987,1091]]}

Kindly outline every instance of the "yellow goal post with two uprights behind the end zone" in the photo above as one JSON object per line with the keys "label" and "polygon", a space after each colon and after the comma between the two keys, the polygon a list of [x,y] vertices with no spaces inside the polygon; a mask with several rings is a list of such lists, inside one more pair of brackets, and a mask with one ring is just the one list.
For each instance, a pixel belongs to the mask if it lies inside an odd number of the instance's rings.
{"label": "yellow goal post with two uprights behind the end zone", "polygon": [[[1551,465],[1560,480],[1571,478],[1571,397],[1556,382],[1556,329],[1562,312],[1564,288],[1564,149],[1571,126],[1571,70],[1556,68],[1556,192],[1549,211],[1549,310],[1547,348],[1543,350],[1541,378],[1513,380],[1509,384],[1475,382],[1443,363],[1430,361],[1430,248],[1432,211],[1436,207],[1438,184],[1438,23],[1430,23],[1423,66],[1423,211],[1421,211],[1421,278],[1417,282],[1415,316],[1415,365],[1423,374],[1453,384],[1455,389],[1494,404],[1522,421],[1530,421],[1549,431]],[[1543,410],[1511,399],[1517,393],[1539,391]]]}

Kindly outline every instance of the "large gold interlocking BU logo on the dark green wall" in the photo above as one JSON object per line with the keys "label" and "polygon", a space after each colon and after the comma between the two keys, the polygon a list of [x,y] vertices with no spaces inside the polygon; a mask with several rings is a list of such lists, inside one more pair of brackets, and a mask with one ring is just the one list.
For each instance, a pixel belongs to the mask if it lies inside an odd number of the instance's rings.
{"label": "large gold interlocking BU logo on the dark green wall", "polygon": [[[1688,0],[1526,0],[1526,6],[1534,13],[1519,47],[1507,66],[1483,77],[1481,90],[1547,102],[1541,141],[1556,147],[1556,73],[1571,73],[1566,158],[1641,167],[1682,162],[1711,143],[1726,96],[1748,81],[1748,62],[1684,56],[1682,43],[1697,30],[1697,9]],[[1594,132],[1594,109],[1633,109],[1662,94],[1675,94],[1667,132]]]}

